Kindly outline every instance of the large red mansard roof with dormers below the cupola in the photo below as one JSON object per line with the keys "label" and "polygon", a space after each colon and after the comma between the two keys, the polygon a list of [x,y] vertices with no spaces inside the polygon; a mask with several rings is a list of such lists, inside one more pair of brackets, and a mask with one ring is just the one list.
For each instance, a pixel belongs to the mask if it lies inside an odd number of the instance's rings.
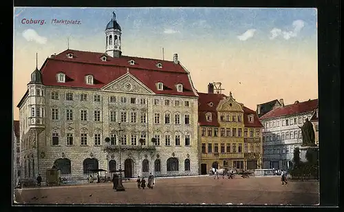
{"label": "large red mansard roof with dormers below the cupola", "polygon": [[[67,58],[67,53],[73,53],[74,58]],[[104,53],[81,52],[76,50],[66,50],[60,54],[49,58],[41,68],[44,85],[83,87],[100,89],[105,85],[115,81],[120,76],[129,73],[136,77],[141,83],[149,87],[155,94],[170,94],[178,96],[196,96],[193,92],[188,72],[182,65],[173,61],[160,61],[155,59],[143,59],[138,57],[121,56],[119,58],[107,57],[108,61],[101,61],[100,56]],[[128,61],[133,59],[135,65],[129,65]],[[156,66],[162,63],[162,68]],[[65,83],[56,81],[56,74],[63,72],[66,75]],[[85,83],[85,76],[94,76],[94,85]],[[163,91],[158,91],[155,83],[164,83]],[[181,83],[183,92],[177,92],[175,85]]]}

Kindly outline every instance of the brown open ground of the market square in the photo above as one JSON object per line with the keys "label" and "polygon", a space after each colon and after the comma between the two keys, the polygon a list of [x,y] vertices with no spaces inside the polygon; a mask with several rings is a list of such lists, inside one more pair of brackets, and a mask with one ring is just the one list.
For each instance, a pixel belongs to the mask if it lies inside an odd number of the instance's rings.
{"label": "brown open ground of the market square", "polygon": [[213,177],[155,179],[154,189],[138,189],[124,182],[126,191],[112,184],[18,189],[24,204],[318,204],[319,182],[281,185],[278,177],[214,180]]}

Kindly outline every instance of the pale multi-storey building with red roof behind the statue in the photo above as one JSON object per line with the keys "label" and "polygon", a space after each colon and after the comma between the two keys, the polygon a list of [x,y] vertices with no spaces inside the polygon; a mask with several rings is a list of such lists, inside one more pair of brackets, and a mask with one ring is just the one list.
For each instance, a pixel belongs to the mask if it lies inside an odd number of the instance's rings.
{"label": "pale multi-storey building with red roof behind the statue", "polygon": [[259,119],[264,125],[264,168],[287,170],[292,167],[293,152],[302,144],[301,127],[311,120],[318,99],[295,101],[292,105],[281,105],[270,110]]}

